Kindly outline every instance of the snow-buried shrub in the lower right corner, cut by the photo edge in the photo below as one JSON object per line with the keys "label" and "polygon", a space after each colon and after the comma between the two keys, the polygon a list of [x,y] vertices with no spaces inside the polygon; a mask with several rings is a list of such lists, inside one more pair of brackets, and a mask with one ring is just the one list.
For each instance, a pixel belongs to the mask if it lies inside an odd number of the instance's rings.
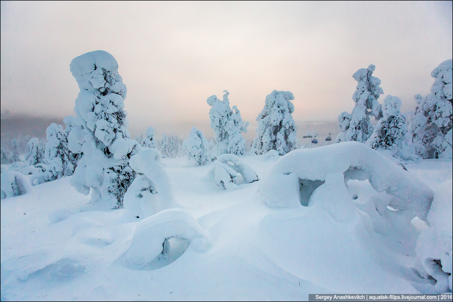
{"label": "snow-buried shrub in the lower right corner, cut by the photo edge", "polygon": [[447,180],[434,192],[428,213],[430,227],[418,236],[416,269],[423,278],[435,280],[433,289],[437,293],[453,290],[452,245],[453,245],[453,181]]}

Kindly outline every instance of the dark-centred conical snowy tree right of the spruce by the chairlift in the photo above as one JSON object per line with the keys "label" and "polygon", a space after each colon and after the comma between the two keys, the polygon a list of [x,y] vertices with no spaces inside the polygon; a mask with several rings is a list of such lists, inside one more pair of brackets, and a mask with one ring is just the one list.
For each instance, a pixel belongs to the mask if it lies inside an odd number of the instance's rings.
{"label": "dark-centred conical snowy tree right of the spruce by the chairlift", "polygon": [[391,95],[386,96],[383,104],[383,117],[374,127],[366,145],[373,149],[390,149],[397,152],[401,149],[407,132],[404,116],[400,113],[401,100]]}

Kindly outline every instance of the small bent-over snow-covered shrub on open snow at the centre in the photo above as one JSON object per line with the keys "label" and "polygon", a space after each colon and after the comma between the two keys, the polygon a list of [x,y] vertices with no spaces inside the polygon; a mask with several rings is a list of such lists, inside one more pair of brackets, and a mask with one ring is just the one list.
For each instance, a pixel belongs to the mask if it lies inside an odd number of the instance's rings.
{"label": "small bent-over snow-covered shrub on open snow at the centre", "polygon": [[238,173],[247,183],[258,181],[258,175],[234,154],[224,154],[214,162],[214,182],[223,189],[237,189]]}

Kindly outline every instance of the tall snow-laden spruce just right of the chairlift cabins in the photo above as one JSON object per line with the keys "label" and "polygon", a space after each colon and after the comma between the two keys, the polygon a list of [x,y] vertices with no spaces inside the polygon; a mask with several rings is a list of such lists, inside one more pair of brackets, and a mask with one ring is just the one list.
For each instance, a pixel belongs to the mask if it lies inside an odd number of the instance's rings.
{"label": "tall snow-laden spruce just right of the chairlift cabins", "polygon": [[372,76],[374,68],[375,66],[371,64],[368,68],[360,68],[352,75],[357,81],[356,91],[352,95],[355,106],[350,116],[343,112],[338,117],[341,132],[338,133],[336,142],[351,140],[365,142],[373,131],[369,116],[374,116],[376,120],[383,116],[378,98],[384,91],[380,87],[381,80]]}

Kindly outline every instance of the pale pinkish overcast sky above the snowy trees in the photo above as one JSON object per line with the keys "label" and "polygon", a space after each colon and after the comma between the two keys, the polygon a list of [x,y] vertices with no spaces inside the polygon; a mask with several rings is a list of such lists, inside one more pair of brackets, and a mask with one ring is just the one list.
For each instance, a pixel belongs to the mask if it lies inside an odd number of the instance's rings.
{"label": "pale pinkish overcast sky above the snowy trees", "polygon": [[452,2],[1,2],[1,110],[74,115],[74,57],[105,50],[127,86],[130,125],[205,121],[230,92],[254,122],[273,90],[296,121],[351,112],[369,64],[413,110],[452,58]]}

